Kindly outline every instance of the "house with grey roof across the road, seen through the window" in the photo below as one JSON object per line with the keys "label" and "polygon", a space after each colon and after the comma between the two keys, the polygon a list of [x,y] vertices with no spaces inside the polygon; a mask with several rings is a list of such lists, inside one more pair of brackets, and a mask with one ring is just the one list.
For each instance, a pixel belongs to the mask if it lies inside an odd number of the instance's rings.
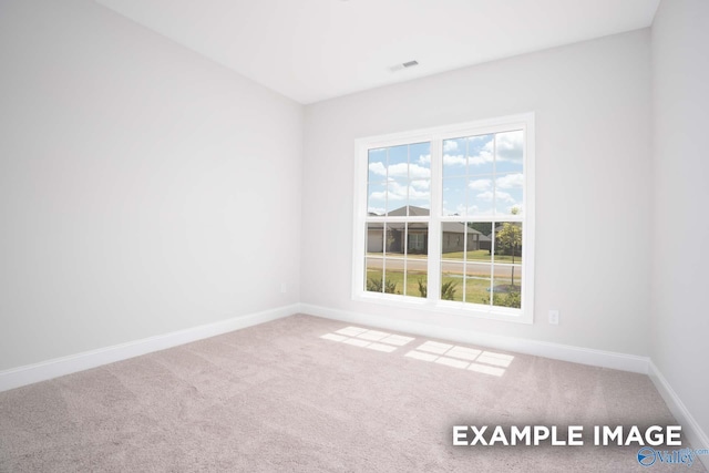
{"label": "house with grey roof across the road, seen through the window", "polygon": [[[397,208],[389,213],[390,216],[428,216],[429,209],[415,207],[413,205]],[[382,253],[384,248],[384,225],[387,226],[387,253],[404,253],[403,239],[405,235],[405,224],[403,223],[369,223],[367,224],[367,251]],[[465,224],[460,222],[443,222],[442,227],[442,251],[454,253],[465,250]],[[429,249],[429,224],[410,223],[408,238],[409,254],[425,254]],[[467,250],[491,248],[491,239],[482,233],[467,228]]]}

